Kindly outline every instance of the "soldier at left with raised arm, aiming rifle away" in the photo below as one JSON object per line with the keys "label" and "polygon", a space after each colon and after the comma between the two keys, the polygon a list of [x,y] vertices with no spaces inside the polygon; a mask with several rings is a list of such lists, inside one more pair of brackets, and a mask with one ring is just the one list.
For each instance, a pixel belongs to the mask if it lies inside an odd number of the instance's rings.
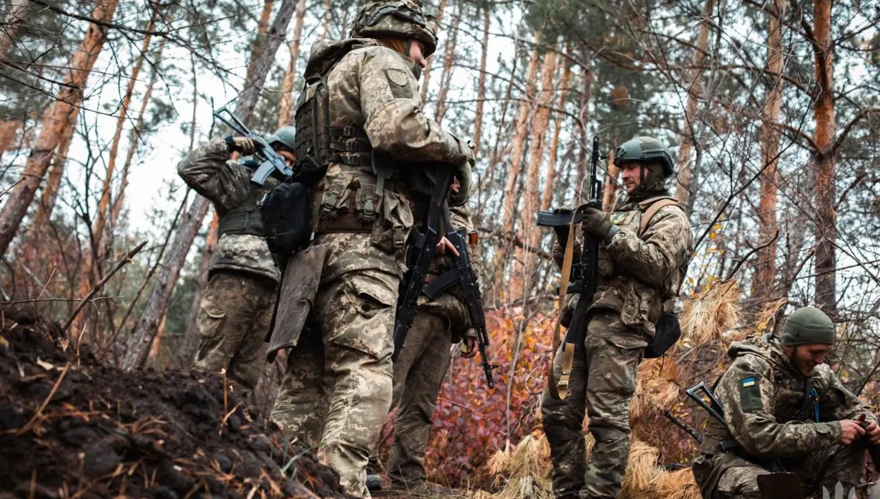
{"label": "soldier at left with raised arm, aiming rifle away", "polygon": [[[282,127],[267,142],[293,164],[294,128]],[[216,138],[189,153],[177,171],[195,192],[214,203],[220,217],[219,238],[209,268],[208,286],[197,319],[199,350],[195,371],[220,372],[233,389],[253,392],[266,363],[264,339],[275,306],[280,274],[264,239],[257,202],[268,187],[251,183],[253,160],[232,161],[238,151],[255,151],[247,137]]]}

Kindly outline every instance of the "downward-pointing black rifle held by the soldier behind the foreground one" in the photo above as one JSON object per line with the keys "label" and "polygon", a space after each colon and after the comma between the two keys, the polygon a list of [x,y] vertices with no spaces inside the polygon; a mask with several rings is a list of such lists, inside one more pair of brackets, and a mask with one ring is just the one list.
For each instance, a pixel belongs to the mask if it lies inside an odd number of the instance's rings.
{"label": "downward-pointing black rifle held by the soldier behind the foreground one", "polygon": [[465,302],[467,314],[471,319],[471,327],[477,332],[477,348],[480,349],[480,360],[483,364],[483,373],[486,375],[486,384],[489,388],[495,388],[492,370],[498,366],[488,362],[489,335],[486,329],[486,313],[483,312],[483,298],[480,295],[480,285],[477,283],[477,276],[473,274],[471,254],[467,251],[468,234],[464,228],[452,229],[448,204],[444,205],[444,220],[446,223],[446,238],[450,240],[452,246],[455,246],[456,251],[458,251],[458,256],[454,254],[450,256],[455,260],[455,267],[437,277],[422,292],[429,300],[433,300],[452,286],[456,284],[461,286],[461,297]]}

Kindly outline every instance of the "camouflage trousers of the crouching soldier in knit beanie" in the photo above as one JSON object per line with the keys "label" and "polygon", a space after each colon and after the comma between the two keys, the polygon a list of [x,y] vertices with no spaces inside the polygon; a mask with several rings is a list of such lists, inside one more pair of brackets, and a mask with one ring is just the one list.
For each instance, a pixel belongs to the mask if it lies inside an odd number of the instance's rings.
{"label": "camouflage trousers of the crouching soldier in knit beanie", "polygon": [[[705,456],[703,459],[715,469],[727,468],[721,473],[711,499],[761,499],[758,476],[769,474],[766,468],[728,453]],[[790,473],[796,473],[809,494],[850,499],[855,496],[850,494],[859,482],[864,460],[862,445],[834,445],[810,452],[806,458],[783,459],[781,466]],[[694,476],[700,483],[701,474],[694,473]],[[839,484],[842,494],[836,495]],[[823,495],[825,490],[828,495]]]}

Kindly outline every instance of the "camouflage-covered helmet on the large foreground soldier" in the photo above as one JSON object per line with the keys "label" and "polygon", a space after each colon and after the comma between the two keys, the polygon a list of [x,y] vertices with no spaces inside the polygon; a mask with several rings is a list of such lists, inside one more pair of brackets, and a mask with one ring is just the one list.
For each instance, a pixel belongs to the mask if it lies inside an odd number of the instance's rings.
{"label": "camouflage-covered helmet on the large foreground soldier", "polygon": [[351,36],[419,40],[425,46],[426,58],[437,47],[436,19],[422,12],[422,0],[365,2],[357,11]]}

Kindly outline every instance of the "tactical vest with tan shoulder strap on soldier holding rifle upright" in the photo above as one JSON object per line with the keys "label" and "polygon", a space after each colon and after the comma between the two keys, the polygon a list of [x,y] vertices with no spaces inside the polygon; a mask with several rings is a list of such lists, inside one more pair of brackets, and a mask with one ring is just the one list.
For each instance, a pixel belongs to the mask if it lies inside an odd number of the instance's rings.
{"label": "tactical vest with tan shoulder strap on soldier holding rifle upright", "polygon": [[[612,224],[620,229],[628,229],[642,237],[651,218],[666,206],[678,206],[678,202],[668,196],[654,197],[633,204],[627,203],[625,210],[611,214]],[[622,208],[622,207],[621,207]],[[598,257],[598,283],[591,307],[611,308],[620,311],[620,317],[628,326],[653,328],[665,300],[678,296],[678,289],[686,273],[687,262],[678,272],[667,277],[660,289],[642,283],[637,275],[629,275],[620,264],[612,259],[608,248],[600,246]]]}

